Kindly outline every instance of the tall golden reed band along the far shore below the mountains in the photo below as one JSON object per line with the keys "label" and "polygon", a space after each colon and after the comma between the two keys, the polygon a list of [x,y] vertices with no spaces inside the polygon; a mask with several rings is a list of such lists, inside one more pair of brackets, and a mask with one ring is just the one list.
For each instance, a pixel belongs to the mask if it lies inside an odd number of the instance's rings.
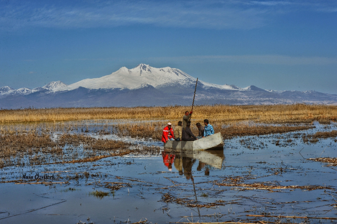
{"label": "tall golden reed band along the far shore below the mountains", "polygon": [[[155,107],[90,107],[3,109],[0,123],[37,121],[75,121],[95,119],[180,120],[190,106]],[[193,119],[212,121],[254,120],[264,123],[298,123],[313,120],[327,123],[337,120],[335,105],[197,105]]]}

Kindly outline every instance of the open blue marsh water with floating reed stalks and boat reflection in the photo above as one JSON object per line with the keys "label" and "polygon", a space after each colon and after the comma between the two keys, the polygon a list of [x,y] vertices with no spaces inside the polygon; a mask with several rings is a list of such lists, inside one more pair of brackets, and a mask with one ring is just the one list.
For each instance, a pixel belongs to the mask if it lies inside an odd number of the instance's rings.
{"label": "open blue marsh water with floating reed stalks and boat reflection", "polygon": [[[0,223],[336,223],[337,166],[310,160],[336,158],[335,138],[308,143],[301,137],[336,130],[336,124],[313,125],[232,138],[220,151],[162,149],[94,162],[4,167]],[[151,139],[87,134],[162,147]]]}

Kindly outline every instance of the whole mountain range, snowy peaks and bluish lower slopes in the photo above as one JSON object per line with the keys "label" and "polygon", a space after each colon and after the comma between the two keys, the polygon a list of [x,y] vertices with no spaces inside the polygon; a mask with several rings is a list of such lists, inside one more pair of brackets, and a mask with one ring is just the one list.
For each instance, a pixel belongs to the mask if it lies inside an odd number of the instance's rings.
{"label": "whole mountain range, snowy peaks and bluish lower slopes", "polygon": [[[99,78],[66,85],[50,82],[34,89],[0,88],[0,107],[15,109],[40,107],[163,106],[190,105],[196,78],[177,68],[154,68],[139,64],[122,67]],[[198,81],[196,104],[337,104],[337,95],[315,91],[274,91],[256,86],[240,88]]]}

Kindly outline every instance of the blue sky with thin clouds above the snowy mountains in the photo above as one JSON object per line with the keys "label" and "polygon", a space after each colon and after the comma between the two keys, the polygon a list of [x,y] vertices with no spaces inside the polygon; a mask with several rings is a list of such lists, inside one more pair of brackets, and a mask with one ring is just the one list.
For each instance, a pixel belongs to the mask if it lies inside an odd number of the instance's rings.
{"label": "blue sky with thin clouds above the snowy mountains", "polygon": [[0,87],[140,63],[220,85],[337,94],[337,1],[0,0]]}

